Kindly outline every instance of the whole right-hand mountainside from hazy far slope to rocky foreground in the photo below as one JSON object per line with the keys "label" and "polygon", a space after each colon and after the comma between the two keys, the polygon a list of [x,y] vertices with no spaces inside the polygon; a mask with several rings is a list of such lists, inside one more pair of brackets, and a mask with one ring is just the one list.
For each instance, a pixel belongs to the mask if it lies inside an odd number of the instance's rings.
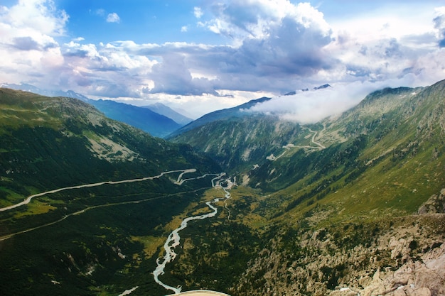
{"label": "whole right-hand mountainside from hazy far slope to rocky foreground", "polygon": [[240,219],[269,241],[230,293],[443,293],[444,110],[441,81],[373,92],[317,124],[250,114],[171,138],[257,190],[241,193]]}

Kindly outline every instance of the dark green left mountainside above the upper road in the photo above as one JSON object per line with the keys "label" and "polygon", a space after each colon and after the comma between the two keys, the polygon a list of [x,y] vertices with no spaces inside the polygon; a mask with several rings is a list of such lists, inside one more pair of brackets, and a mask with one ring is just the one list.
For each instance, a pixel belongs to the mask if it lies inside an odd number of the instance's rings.
{"label": "dark green left mountainside above the upper road", "polygon": [[211,166],[191,148],[107,119],[77,99],[1,89],[0,104],[2,187],[14,184],[21,190],[15,193],[22,196],[32,193],[26,187],[45,191],[73,182],[140,177],[192,163]]}

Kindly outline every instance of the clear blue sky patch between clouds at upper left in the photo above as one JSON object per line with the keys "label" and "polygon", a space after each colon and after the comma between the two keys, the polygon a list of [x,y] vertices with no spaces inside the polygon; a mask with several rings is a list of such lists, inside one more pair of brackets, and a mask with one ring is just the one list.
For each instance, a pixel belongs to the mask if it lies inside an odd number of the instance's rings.
{"label": "clear blue sky patch between clouds at upper left", "polygon": [[[194,7],[199,7],[201,2],[65,0],[59,1],[58,6],[70,15],[68,38],[82,36],[90,43],[116,40],[159,44],[172,41],[219,43],[214,33],[196,30]],[[107,21],[113,13],[119,18]]]}

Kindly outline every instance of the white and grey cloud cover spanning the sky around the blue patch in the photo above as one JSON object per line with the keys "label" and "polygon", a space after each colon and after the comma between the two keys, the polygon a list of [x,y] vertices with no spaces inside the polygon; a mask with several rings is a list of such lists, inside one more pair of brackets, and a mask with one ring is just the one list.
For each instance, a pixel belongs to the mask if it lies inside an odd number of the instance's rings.
{"label": "white and grey cloud cover spanning the sky around the blue patch", "polygon": [[[185,108],[200,98],[201,115],[256,95],[333,85],[332,93],[326,90],[320,99],[307,93],[289,101],[289,116],[303,118],[320,106],[333,111],[352,106],[388,81],[418,86],[445,78],[445,7],[412,11],[409,19],[363,16],[357,23],[328,23],[322,9],[289,0],[205,1],[189,12],[195,28],[221,36],[225,43],[93,44],[82,36],[61,41],[69,33],[70,16],[57,2],[20,0],[0,6],[0,82],[74,89],[141,104],[163,99]],[[117,13],[102,15],[120,26]],[[409,27],[416,22],[416,28]],[[187,33],[188,28],[184,24],[178,31]],[[354,98],[345,99],[343,90]],[[261,108],[279,108],[272,101]],[[313,111],[304,111],[307,107],[299,101],[310,101]]]}

